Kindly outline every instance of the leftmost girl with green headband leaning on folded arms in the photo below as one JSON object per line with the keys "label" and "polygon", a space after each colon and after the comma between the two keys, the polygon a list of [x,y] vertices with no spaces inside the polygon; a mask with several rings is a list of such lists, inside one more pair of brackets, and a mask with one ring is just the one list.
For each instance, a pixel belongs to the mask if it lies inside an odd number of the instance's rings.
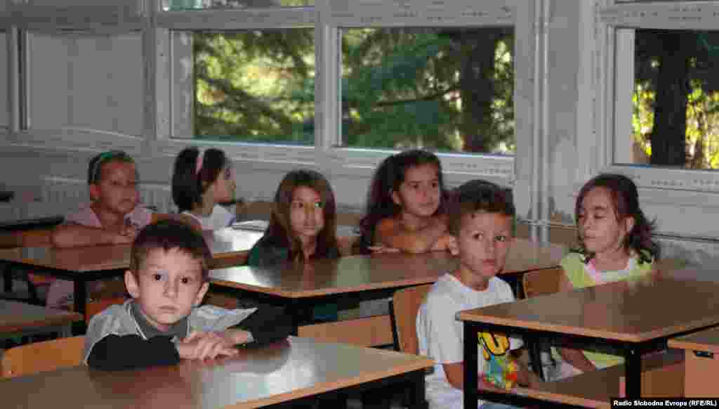
{"label": "leftmost girl with green headband leaning on folded arms", "polygon": [[[122,150],[109,150],[94,156],[88,165],[91,204],[65,217],[65,223],[52,230],[56,247],[129,244],[137,230],[152,221],[178,218],[153,214],[139,205],[137,168],[134,160]],[[97,288],[96,288],[97,289]],[[47,306],[59,307],[73,297],[73,284],[56,280],[47,291]]]}

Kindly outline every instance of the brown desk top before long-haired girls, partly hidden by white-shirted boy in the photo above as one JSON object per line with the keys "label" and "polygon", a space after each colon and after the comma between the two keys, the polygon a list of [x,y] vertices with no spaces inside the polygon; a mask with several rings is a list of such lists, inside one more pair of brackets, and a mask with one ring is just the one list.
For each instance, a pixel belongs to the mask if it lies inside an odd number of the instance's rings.
{"label": "brown desk top before long-haired girls, partly hidden by white-shirted boy", "polygon": [[[561,246],[541,247],[517,240],[502,274],[558,266],[563,251]],[[210,278],[214,284],[224,287],[301,298],[432,284],[455,268],[457,259],[446,252],[377,253],[319,259],[308,264],[214,269],[210,271]]]}

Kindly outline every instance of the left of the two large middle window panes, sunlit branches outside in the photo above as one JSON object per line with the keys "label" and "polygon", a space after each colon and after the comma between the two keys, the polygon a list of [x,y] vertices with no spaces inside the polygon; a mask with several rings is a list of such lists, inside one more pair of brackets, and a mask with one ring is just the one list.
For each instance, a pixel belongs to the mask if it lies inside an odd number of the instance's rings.
{"label": "left of the two large middle window panes, sunlit branches outside", "polygon": [[[175,105],[189,106],[187,131],[173,136],[235,142],[314,143],[313,28],[239,32],[175,32],[185,39],[175,84],[186,82]],[[178,49],[178,41],[173,43]],[[191,52],[189,51],[191,47]],[[181,66],[191,70],[180,71]],[[188,72],[191,71],[191,72]],[[180,86],[182,87],[182,86]],[[177,112],[175,110],[175,115]],[[187,135],[187,133],[191,135]]]}

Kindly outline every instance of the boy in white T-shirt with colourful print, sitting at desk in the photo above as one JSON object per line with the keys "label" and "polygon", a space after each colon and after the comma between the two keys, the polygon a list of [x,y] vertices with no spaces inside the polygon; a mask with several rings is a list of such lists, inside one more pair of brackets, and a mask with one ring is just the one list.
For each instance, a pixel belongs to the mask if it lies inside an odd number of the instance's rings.
{"label": "boy in white T-shirt with colourful print, sitting at desk", "polygon": [[[456,313],[514,300],[509,284],[495,277],[504,268],[513,242],[514,214],[507,194],[493,183],[470,181],[454,192],[449,231],[457,240],[452,253],[459,256],[459,267],[432,286],[416,320],[420,354],[436,362],[434,373],[426,378],[430,408],[462,408],[464,340]],[[520,343],[503,334],[478,334],[480,389],[497,391],[539,382],[510,352]],[[482,401],[477,406],[512,408]]]}

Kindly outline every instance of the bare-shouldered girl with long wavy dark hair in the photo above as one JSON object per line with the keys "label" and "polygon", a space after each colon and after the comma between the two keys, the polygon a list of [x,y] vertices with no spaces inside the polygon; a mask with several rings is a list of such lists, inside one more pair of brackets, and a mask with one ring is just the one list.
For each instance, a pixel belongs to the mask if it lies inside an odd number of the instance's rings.
{"label": "bare-shouldered girl with long wavy dark hair", "polygon": [[434,153],[406,150],[390,156],[375,171],[367,212],[359,222],[354,251],[444,251],[446,233],[444,181]]}

